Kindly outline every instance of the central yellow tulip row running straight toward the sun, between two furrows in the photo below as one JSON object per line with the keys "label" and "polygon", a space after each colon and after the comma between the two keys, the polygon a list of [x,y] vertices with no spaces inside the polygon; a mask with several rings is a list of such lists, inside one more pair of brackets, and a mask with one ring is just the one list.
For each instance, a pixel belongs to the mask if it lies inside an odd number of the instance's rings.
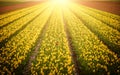
{"label": "central yellow tulip row running straight toward the sun, between two furrows", "polygon": [[56,6],[48,22],[48,28],[43,36],[39,53],[32,63],[32,75],[73,75],[74,65],[70,50],[61,9]]}

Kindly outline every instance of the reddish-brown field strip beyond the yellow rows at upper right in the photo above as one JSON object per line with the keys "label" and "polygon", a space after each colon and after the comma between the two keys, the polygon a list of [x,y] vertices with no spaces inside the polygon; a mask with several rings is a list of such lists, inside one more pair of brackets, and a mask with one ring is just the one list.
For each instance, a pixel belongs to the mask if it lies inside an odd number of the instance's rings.
{"label": "reddish-brown field strip beyond the yellow rows at upper right", "polygon": [[77,2],[77,3],[98,10],[120,15],[120,1],[86,1],[86,2]]}

